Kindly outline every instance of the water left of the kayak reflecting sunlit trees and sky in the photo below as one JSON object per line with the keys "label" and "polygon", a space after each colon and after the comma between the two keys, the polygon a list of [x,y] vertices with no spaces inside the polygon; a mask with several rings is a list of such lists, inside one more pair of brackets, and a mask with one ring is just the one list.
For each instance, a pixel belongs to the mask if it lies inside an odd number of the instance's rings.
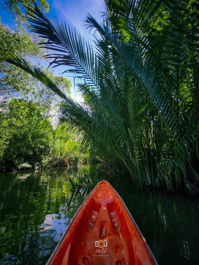
{"label": "water left of the kayak reflecting sunlit trees and sky", "polygon": [[[99,167],[88,164],[1,175],[0,264],[11,260],[28,264],[30,258],[36,264],[45,263],[84,201],[84,196],[76,196],[68,209],[72,195],[69,178],[74,183],[89,174],[101,178]],[[51,228],[46,216],[53,216]]]}

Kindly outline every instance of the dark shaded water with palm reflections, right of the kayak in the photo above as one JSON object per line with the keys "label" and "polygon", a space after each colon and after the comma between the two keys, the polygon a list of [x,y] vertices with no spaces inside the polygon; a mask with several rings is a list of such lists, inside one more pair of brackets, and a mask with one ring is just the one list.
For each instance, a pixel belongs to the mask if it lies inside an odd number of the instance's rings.
{"label": "dark shaded water with palm reflections, right of the kayak", "polygon": [[159,264],[198,264],[197,200],[165,191],[132,191],[124,181],[118,181],[115,188]]}

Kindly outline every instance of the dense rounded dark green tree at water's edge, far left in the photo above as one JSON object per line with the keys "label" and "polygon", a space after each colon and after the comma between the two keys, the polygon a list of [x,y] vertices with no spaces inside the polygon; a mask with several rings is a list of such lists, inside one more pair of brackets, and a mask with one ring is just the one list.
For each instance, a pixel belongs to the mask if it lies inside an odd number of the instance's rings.
{"label": "dense rounded dark green tree at water's edge, far left", "polygon": [[36,163],[44,164],[43,159],[48,155],[53,138],[53,127],[41,111],[39,104],[31,100],[10,100],[9,119],[4,120],[1,127],[1,170],[22,169],[27,165],[34,168]]}

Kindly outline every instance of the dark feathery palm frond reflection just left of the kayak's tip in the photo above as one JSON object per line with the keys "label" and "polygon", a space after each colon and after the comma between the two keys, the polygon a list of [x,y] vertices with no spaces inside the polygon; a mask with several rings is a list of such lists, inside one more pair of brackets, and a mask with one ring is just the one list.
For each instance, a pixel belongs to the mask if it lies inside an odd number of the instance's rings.
{"label": "dark feathery palm frond reflection just left of the kayak's tip", "polygon": [[89,175],[89,178],[87,176],[84,176],[84,177],[76,176],[76,177],[79,180],[78,183],[77,182],[73,183],[71,178],[69,178],[70,183],[72,185],[72,188],[71,188],[72,195],[68,203],[68,210],[69,210],[71,201],[74,196],[77,196],[77,195],[79,195],[79,197],[83,197],[84,195],[87,196],[90,193],[90,191],[92,191],[92,189],[97,185],[97,181],[94,180],[94,178],[91,175]]}

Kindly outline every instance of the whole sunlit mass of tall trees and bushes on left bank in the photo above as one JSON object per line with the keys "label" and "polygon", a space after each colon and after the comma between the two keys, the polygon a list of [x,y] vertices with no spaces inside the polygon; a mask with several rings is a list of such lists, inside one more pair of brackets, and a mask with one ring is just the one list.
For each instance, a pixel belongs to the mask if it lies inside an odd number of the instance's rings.
{"label": "whole sunlit mass of tall trees and bushes on left bank", "polygon": [[[71,82],[57,77],[42,64],[39,39],[23,27],[11,30],[0,24],[0,49],[37,60],[46,75],[64,93]],[[81,133],[56,127],[60,97],[19,67],[0,62],[0,171],[68,166],[95,161],[81,147]]]}

